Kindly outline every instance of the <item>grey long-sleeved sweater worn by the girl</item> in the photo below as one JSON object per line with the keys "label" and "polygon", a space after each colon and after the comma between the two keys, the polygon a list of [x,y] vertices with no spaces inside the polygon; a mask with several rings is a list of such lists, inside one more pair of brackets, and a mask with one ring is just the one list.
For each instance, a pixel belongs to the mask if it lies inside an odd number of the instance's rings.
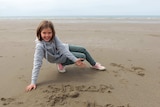
{"label": "grey long-sleeved sweater worn by the girl", "polygon": [[42,60],[50,63],[64,63],[67,58],[75,62],[77,58],[69,51],[68,44],[63,44],[57,36],[50,42],[36,40],[31,83],[36,84]]}

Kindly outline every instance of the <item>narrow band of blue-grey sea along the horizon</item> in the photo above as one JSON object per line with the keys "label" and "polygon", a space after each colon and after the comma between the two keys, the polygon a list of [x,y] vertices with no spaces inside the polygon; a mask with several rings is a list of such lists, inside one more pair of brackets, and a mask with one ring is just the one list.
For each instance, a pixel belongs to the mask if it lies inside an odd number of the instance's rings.
{"label": "narrow band of blue-grey sea along the horizon", "polygon": [[106,15],[106,16],[0,16],[0,19],[160,19],[152,15]]}

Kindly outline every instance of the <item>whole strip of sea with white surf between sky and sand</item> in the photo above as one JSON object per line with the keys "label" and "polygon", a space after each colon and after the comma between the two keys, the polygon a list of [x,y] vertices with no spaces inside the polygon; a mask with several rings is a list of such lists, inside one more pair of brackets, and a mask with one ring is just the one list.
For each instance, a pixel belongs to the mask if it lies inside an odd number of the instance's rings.
{"label": "whole strip of sea with white surf between sky and sand", "polygon": [[[123,15],[123,16],[0,16],[0,20],[21,20],[21,19],[33,19],[33,20],[54,20],[57,22],[94,22],[95,20],[102,23],[109,22],[126,22],[126,23],[160,23],[160,16],[138,16],[138,15]],[[60,21],[61,20],[61,21]]]}

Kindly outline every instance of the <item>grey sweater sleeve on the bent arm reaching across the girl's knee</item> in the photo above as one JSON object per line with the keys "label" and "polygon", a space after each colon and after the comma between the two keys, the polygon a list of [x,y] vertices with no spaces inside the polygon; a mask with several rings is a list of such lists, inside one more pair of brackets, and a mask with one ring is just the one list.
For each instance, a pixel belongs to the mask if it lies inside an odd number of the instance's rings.
{"label": "grey sweater sleeve on the bent arm reaching across the girl's knee", "polygon": [[55,40],[58,50],[61,53],[63,53],[67,58],[69,58],[73,62],[76,62],[77,58],[69,50],[65,48],[65,46],[63,45],[63,43],[60,41],[60,39],[57,36],[54,37],[54,40]]}

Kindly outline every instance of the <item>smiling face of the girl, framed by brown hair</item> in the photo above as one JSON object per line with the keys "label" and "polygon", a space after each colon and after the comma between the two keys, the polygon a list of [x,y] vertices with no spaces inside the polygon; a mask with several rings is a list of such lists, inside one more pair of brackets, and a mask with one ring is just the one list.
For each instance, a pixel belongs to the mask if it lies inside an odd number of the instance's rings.
{"label": "smiling face of the girl, framed by brown hair", "polygon": [[49,42],[52,39],[52,36],[51,28],[45,28],[41,31],[41,37],[46,42]]}

